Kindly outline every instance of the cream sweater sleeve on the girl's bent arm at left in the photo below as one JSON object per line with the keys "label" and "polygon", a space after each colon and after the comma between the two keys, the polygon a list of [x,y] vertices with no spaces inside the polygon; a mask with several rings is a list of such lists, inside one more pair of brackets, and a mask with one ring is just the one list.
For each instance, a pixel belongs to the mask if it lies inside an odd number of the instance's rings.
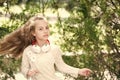
{"label": "cream sweater sleeve on the girl's bent arm at left", "polygon": [[21,72],[26,78],[27,78],[27,72],[30,69],[27,53],[28,50],[25,49],[22,55],[22,63],[21,63]]}

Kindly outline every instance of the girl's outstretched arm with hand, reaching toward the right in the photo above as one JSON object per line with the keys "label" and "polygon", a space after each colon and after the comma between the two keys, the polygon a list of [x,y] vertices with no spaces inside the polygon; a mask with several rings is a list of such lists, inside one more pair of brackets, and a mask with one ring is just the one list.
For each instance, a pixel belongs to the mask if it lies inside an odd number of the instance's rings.
{"label": "girl's outstretched arm with hand, reaching toward the right", "polygon": [[75,68],[72,66],[67,65],[63,59],[62,59],[62,51],[60,48],[55,49],[56,51],[56,55],[55,55],[55,64],[56,67],[59,71],[63,72],[63,73],[67,73],[70,74],[73,77],[78,77],[78,75],[81,76],[89,76],[90,73],[92,72],[90,69],[88,68]]}

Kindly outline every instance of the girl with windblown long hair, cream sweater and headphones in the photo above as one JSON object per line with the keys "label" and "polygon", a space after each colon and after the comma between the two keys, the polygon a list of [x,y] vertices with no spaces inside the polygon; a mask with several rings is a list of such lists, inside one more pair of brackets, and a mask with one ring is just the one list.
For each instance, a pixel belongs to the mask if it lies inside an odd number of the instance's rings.
{"label": "girl with windblown long hair, cream sweater and headphones", "polygon": [[22,53],[21,72],[32,80],[60,80],[55,70],[73,77],[89,76],[90,69],[75,68],[64,63],[62,51],[50,44],[50,30],[45,18],[37,15],[12,32],[0,43],[0,52],[18,56]]}

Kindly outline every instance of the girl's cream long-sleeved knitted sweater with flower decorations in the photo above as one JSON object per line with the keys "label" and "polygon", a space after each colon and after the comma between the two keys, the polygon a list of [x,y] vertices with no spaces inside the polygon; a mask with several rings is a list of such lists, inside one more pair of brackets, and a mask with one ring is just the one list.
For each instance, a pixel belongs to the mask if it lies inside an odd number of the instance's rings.
{"label": "girl's cream long-sleeved knitted sweater with flower decorations", "polygon": [[32,76],[32,80],[60,80],[55,75],[55,66],[62,73],[70,74],[73,77],[78,76],[79,69],[67,65],[63,61],[62,51],[57,46],[51,46],[47,53],[35,53],[30,45],[23,52],[21,72],[26,78],[29,70],[36,69],[39,73]]}

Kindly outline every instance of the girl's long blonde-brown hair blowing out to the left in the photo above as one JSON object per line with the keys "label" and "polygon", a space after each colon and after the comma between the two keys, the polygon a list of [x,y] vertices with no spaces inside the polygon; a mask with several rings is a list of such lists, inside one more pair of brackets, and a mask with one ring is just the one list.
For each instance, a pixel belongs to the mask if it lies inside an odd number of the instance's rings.
{"label": "girl's long blonde-brown hair blowing out to the left", "polygon": [[14,57],[23,53],[24,49],[32,43],[35,30],[35,21],[45,20],[43,16],[36,15],[30,18],[22,27],[6,35],[0,40],[0,54],[12,54]]}

